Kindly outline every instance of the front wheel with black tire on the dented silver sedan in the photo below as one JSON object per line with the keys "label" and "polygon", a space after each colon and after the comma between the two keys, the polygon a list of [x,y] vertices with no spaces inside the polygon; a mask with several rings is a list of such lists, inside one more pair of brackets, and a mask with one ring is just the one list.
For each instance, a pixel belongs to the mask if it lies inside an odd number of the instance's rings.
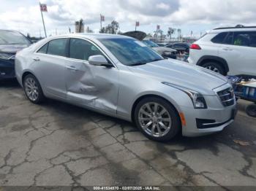
{"label": "front wheel with black tire on the dented silver sedan", "polygon": [[[155,106],[157,106],[157,112],[154,112]],[[134,119],[140,131],[154,141],[170,141],[181,130],[176,109],[159,97],[143,98],[135,107]],[[153,131],[152,128],[154,128]]]}

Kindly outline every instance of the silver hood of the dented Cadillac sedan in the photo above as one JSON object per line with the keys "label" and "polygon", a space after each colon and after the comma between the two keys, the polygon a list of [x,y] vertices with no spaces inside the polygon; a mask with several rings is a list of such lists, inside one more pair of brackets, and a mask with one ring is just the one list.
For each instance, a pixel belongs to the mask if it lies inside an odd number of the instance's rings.
{"label": "silver hood of the dented Cadillac sedan", "polygon": [[173,59],[132,66],[130,69],[140,75],[186,87],[203,95],[215,95],[213,89],[227,83],[226,77],[214,71]]}

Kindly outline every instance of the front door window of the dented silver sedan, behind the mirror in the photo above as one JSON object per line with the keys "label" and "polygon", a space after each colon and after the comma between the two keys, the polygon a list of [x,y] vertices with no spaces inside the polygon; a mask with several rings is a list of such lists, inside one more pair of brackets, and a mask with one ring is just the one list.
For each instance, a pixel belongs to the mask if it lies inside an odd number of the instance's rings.
{"label": "front door window of the dented silver sedan, behind the mirror", "polygon": [[102,55],[102,52],[83,39],[70,39],[69,57],[88,61],[91,55]]}

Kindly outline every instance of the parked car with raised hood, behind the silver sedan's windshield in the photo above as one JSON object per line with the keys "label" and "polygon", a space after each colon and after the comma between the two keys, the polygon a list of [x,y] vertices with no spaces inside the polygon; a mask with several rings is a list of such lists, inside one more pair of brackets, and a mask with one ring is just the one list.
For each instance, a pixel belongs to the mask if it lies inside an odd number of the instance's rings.
{"label": "parked car with raised hood, behind the silver sedan's windshield", "polygon": [[146,40],[145,39],[146,33],[144,33],[143,31],[129,31],[122,35],[130,36],[132,38],[142,41],[144,44],[146,44],[146,46],[151,47],[152,49],[156,50],[164,58],[173,58],[173,59],[177,58],[176,50],[167,48],[167,47],[159,47],[159,45],[157,45],[156,43],[154,43],[150,40]]}

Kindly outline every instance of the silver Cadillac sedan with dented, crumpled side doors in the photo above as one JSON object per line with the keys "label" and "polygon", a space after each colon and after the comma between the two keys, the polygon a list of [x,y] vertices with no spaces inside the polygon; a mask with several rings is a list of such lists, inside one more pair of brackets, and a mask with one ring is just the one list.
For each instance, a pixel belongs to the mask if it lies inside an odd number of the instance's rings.
{"label": "silver Cadillac sedan with dented, crumpled side doors", "polygon": [[135,122],[149,139],[217,132],[233,122],[236,99],[227,79],[199,66],[163,59],[128,36],[68,34],[16,55],[27,98],[53,98]]}

